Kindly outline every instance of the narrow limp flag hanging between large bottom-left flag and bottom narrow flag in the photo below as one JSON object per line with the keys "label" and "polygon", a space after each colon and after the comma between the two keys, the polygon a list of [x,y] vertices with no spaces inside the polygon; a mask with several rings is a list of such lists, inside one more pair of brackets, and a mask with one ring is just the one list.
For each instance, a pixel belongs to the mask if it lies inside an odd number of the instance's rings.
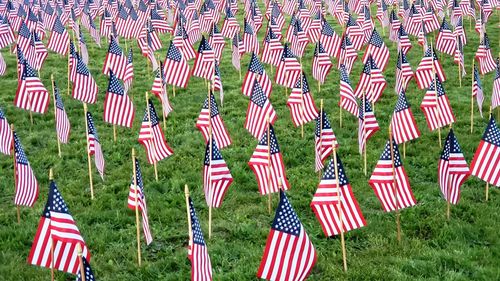
{"label": "narrow limp flag hanging between large bottom-left flag and bottom narrow flag", "polygon": [[149,229],[149,219],[148,219],[148,206],[146,204],[146,195],[144,194],[144,181],[142,180],[141,166],[139,165],[139,160],[135,159],[135,175],[132,175],[132,180],[130,181],[130,190],[128,193],[127,205],[131,210],[139,208],[142,217],[142,231],[144,232],[144,238],[146,239],[146,244],[149,245],[153,242],[153,237],[151,236],[151,230]]}

